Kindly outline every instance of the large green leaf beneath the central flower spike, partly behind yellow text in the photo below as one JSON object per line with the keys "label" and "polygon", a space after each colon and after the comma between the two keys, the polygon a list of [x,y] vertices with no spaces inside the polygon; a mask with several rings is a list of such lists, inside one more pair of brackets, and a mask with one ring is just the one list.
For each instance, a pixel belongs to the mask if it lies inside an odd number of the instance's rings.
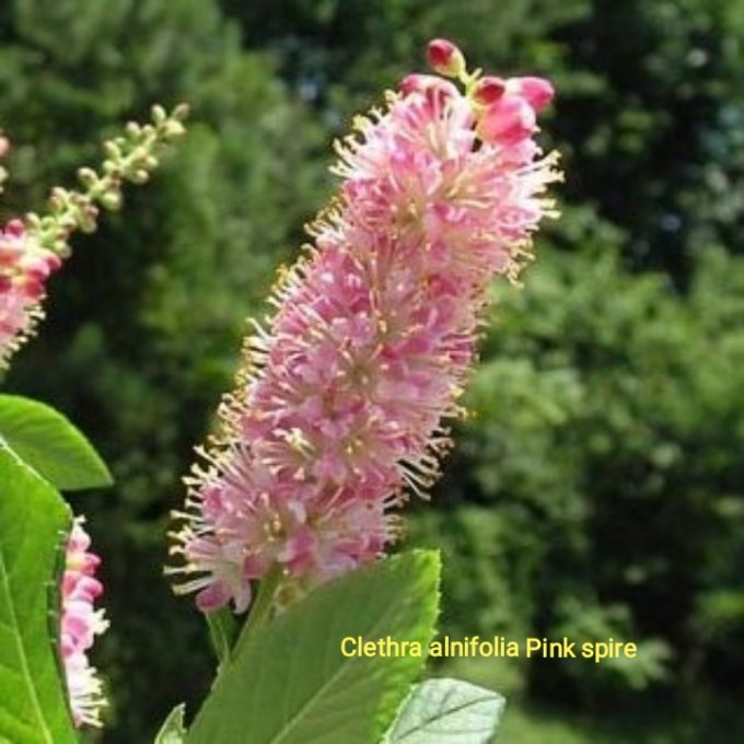
{"label": "large green leaf beneath the central flower spike, partly behind yellow text", "polygon": [[[236,648],[188,744],[376,742],[420,673],[439,605],[439,554],[414,551],[321,586]],[[421,658],[345,656],[392,638]],[[349,651],[351,649],[348,649]]]}

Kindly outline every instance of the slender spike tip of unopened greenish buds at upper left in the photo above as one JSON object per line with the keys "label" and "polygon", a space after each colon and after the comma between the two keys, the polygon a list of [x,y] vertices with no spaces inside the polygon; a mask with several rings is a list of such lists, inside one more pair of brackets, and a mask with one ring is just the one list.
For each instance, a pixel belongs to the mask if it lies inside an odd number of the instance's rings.
{"label": "slender spike tip of unopened greenish buds at upper left", "polygon": [[48,201],[48,213],[26,216],[28,233],[38,244],[60,256],[70,253],[69,239],[75,231],[94,232],[100,207],[117,210],[123,202],[125,183],[144,184],[160,165],[160,155],[170,142],[182,137],[188,106],[181,104],[172,113],[153,106],[148,124],[130,121],[124,135],[104,142],[105,160],[101,171],[78,171],[81,189],[56,187]]}

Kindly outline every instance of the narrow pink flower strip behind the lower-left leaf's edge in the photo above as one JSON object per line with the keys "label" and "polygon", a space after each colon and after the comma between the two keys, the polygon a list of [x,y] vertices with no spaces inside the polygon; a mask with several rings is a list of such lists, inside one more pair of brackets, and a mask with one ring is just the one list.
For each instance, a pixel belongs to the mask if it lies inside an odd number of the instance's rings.
{"label": "narrow pink flower strip behind the lower-left leaf's edge", "polygon": [[101,559],[89,551],[91,538],[83,524],[82,516],[74,520],[67,543],[59,643],[72,720],[78,728],[101,725],[101,710],[106,701],[97,672],[89,663],[88,651],[95,637],[108,627],[103,611],[93,607],[103,592],[95,578]]}

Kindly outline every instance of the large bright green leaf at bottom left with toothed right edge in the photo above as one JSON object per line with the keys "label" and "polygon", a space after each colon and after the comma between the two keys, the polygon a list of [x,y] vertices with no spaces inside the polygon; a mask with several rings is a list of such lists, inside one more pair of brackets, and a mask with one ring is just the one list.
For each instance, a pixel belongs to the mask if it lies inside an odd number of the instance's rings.
{"label": "large bright green leaf at bottom left with toothed right edge", "polygon": [[77,741],[50,633],[70,523],[54,488],[0,446],[0,741]]}

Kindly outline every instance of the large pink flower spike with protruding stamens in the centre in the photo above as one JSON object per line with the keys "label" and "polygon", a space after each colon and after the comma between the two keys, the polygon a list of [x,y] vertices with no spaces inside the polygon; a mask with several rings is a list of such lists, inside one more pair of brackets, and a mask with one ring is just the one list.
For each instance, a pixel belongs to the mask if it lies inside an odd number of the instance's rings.
{"label": "large pink flower spike with protruding stamens in the centre", "polygon": [[533,139],[549,83],[468,74],[442,39],[429,59],[465,91],[409,75],[338,143],[340,193],[187,480],[170,571],[202,611],[244,612],[271,569],[284,604],[382,555],[395,509],[438,476],[489,281],[518,276],[551,210],[556,158]]}

